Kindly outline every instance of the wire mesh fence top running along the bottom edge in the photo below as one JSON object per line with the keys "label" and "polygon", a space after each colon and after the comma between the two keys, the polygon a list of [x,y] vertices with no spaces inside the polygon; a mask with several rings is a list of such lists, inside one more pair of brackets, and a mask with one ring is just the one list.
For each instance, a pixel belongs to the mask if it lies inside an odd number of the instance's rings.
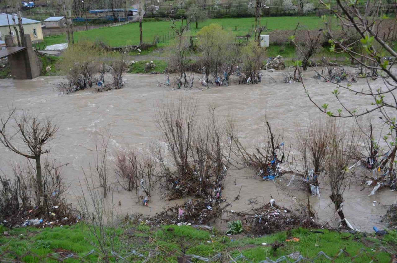
{"label": "wire mesh fence top running along the bottom edge", "polygon": [[[388,258],[385,261],[385,258]],[[58,252],[50,253],[47,255],[36,255],[35,253],[28,251],[23,254],[17,254],[10,251],[0,251],[0,262],[19,263],[19,262],[177,262],[177,263],[198,263],[198,262],[222,262],[222,263],[326,263],[326,262],[397,262],[397,255],[393,255],[387,249],[380,247],[375,251],[369,251],[368,249],[360,249],[355,254],[348,253],[347,251],[340,249],[335,255],[327,255],[323,251],[318,252],[312,257],[305,257],[299,252],[295,252],[291,255],[283,255],[277,259],[270,259],[266,257],[262,261],[251,261],[242,253],[239,255],[230,254],[227,252],[216,253],[212,257],[202,257],[199,255],[188,255],[180,251],[173,250],[168,253],[164,253],[160,250],[138,252],[132,250],[128,253],[120,255],[116,252],[111,252],[109,255],[91,250],[85,255],[77,255],[71,252]]]}

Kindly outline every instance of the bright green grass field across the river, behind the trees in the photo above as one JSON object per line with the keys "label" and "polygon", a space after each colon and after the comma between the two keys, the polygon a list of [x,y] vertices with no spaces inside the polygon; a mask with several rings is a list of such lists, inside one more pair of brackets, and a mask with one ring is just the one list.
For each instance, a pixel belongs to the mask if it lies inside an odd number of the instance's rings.
{"label": "bright green grass field across the river, behind the trees", "polygon": [[[318,29],[323,27],[323,22],[318,17],[264,17],[262,25],[267,23],[269,30],[291,30],[295,29],[297,23],[305,25],[306,29]],[[198,24],[198,29],[192,24],[190,34],[195,35],[202,27],[211,23],[218,23],[226,30],[230,30],[235,35],[246,35],[255,23],[254,17],[247,18],[223,18],[223,19],[207,19]],[[168,36],[171,32],[169,21],[144,22],[143,25],[143,41],[152,43],[154,36]],[[88,39],[91,41],[103,41],[110,46],[124,46],[139,44],[139,23],[130,23],[117,27],[105,27],[101,29],[92,29],[88,31],[79,31],[74,33],[75,41],[79,39]],[[66,43],[65,35],[57,35],[45,37],[46,45]],[[160,43],[162,46],[166,43]]]}

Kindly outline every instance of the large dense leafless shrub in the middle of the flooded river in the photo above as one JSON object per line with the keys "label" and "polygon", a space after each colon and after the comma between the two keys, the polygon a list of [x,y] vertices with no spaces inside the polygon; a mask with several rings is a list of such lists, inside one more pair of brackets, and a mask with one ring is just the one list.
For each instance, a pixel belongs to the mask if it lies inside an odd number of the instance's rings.
{"label": "large dense leafless shrub in the middle of the flooded river", "polygon": [[[214,108],[210,110],[208,120],[200,124],[197,100],[181,97],[175,103],[160,105],[156,116],[171,157],[168,161],[163,149],[157,147],[156,157],[166,178],[167,189],[171,191],[169,198],[208,197],[216,195],[216,191],[219,197],[227,170],[223,153],[226,136],[224,126],[214,115]],[[172,163],[175,170],[168,163]]]}

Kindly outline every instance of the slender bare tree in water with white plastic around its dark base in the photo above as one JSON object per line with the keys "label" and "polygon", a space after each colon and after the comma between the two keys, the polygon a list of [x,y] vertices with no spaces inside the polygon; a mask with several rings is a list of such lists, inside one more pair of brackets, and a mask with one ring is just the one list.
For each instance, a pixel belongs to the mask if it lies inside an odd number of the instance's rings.
{"label": "slender bare tree in water with white plastic around its dark base", "polygon": [[349,223],[343,214],[343,192],[352,174],[349,163],[352,161],[352,153],[357,150],[359,138],[355,128],[348,130],[344,124],[334,120],[329,130],[327,153],[324,158],[326,180],[331,190],[330,199],[345,226],[349,226]]}

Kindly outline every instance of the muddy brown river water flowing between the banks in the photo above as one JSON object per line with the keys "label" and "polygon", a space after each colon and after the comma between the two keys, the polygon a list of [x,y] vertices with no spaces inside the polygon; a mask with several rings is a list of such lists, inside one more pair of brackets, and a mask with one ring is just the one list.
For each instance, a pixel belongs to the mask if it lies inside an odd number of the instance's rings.
{"label": "muddy brown river water flowing between the banks", "polygon": [[[269,73],[280,79],[281,72]],[[319,104],[332,105],[335,98],[331,90],[335,85],[320,82],[310,77],[313,72],[305,72],[305,81],[310,95]],[[146,153],[150,143],[159,139],[158,129],[154,121],[156,103],[167,99],[177,99],[180,93],[195,93],[202,110],[208,104],[217,107],[219,116],[233,116],[242,141],[247,145],[255,145],[264,135],[265,117],[272,123],[272,128],[282,131],[289,138],[306,125],[309,120],[327,118],[308,100],[301,83],[258,85],[231,85],[229,87],[211,87],[200,90],[173,90],[168,87],[156,87],[156,79],[164,82],[163,75],[127,74],[125,88],[120,90],[93,93],[92,90],[78,91],[69,95],[61,95],[54,83],[62,77],[38,77],[34,80],[0,80],[0,114],[6,114],[8,108],[31,110],[41,117],[49,117],[59,125],[56,138],[50,143],[48,157],[61,163],[69,164],[63,168],[63,174],[70,184],[67,194],[68,201],[76,204],[81,196],[79,180],[83,182],[82,169],[89,170],[94,161],[94,139],[96,131],[111,132],[109,163],[113,200],[120,214],[143,213],[154,215],[164,207],[184,200],[168,202],[160,199],[162,191],[156,191],[149,207],[143,207],[133,193],[117,186],[113,172],[112,155],[117,149],[125,149],[131,145]],[[195,81],[198,83],[198,81]],[[353,87],[365,85],[364,81],[353,84]],[[381,85],[381,83],[374,83]],[[54,89],[53,89],[54,88]],[[351,96],[342,92],[340,98],[347,105],[360,109],[368,108],[370,100],[361,96]],[[331,108],[335,110],[337,106]],[[378,113],[373,115],[373,123],[380,124]],[[379,126],[379,125],[378,125]],[[377,126],[377,127],[378,127]],[[379,128],[378,128],[379,129]],[[379,131],[379,130],[378,130]],[[285,140],[286,142],[289,141]],[[5,174],[11,174],[11,164],[21,163],[23,159],[0,146],[0,168]],[[254,171],[249,168],[238,169],[231,166],[228,170],[223,196],[232,201],[239,193],[240,199],[233,202],[228,209],[242,211],[250,207],[250,199],[257,198],[263,202],[270,200],[287,207],[295,207],[297,199],[306,200],[306,193],[294,187],[294,181],[288,184],[291,175],[285,175],[281,182],[264,182],[254,178]],[[295,180],[301,180],[298,177]],[[324,186],[325,187],[325,186]],[[396,202],[396,191],[384,189],[368,196],[372,188],[362,190],[359,182],[352,183],[344,193],[344,213],[355,228],[371,231],[372,226],[382,227],[380,217],[387,208]],[[83,184],[84,189],[84,184]],[[121,206],[118,205],[119,201]],[[375,206],[373,201],[378,201]],[[322,189],[321,197],[310,197],[311,205],[318,213],[320,220],[337,224],[333,204],[329,194]],[[219,223],[224,226],[224,222]]]}

